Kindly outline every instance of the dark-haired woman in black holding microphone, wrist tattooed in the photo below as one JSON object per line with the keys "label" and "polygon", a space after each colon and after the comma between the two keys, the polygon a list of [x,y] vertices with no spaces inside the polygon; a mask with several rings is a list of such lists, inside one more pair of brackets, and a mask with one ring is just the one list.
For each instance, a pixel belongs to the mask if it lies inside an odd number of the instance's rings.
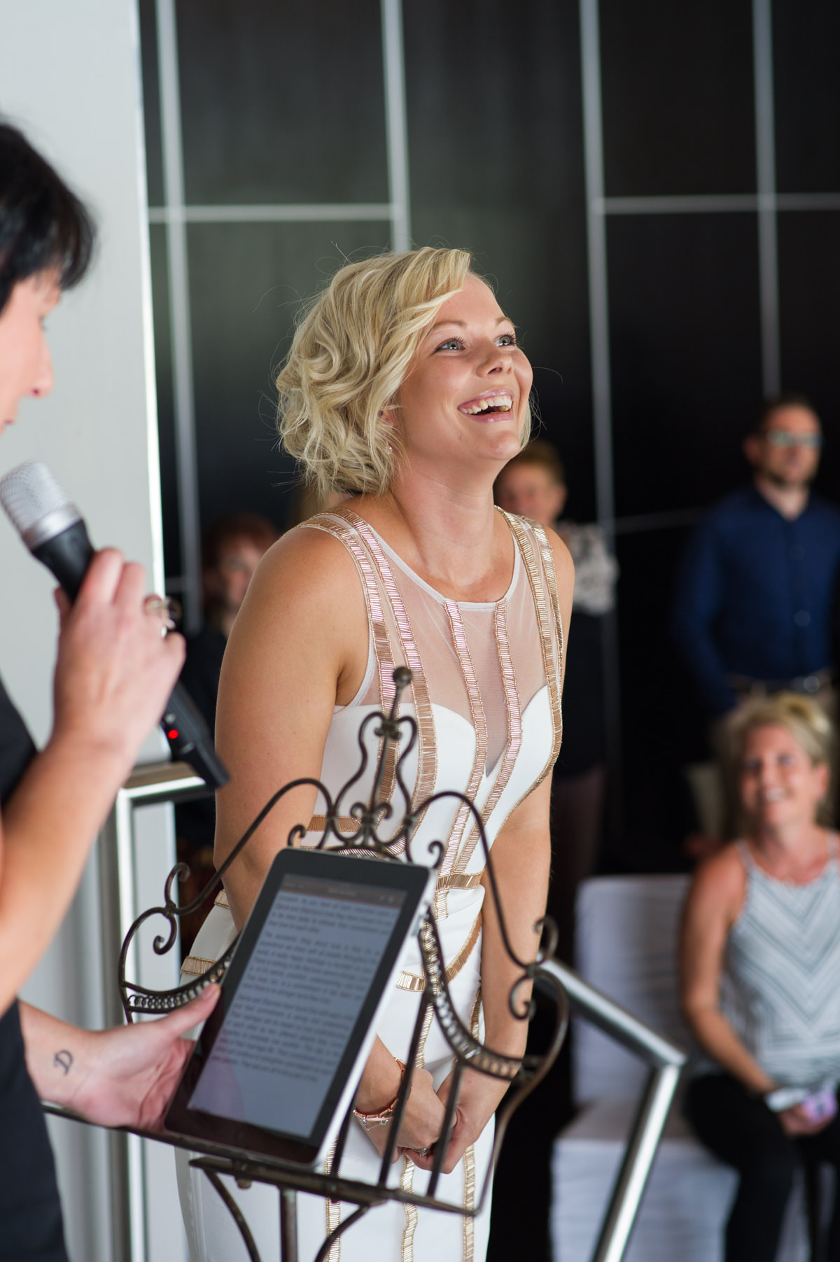
{"label": "dark-haired woman in black holding microphone, wrist tattooed", "polygon": [[[0,124],[0,432],[21,399],[52,389],[43,322],[83,275],[91,245],[85,208],[20,133]],[[112,549],[91,563],[73,608],[63,598],[59,607],[54,726],[40,755],[0,683],[4,1262],[67,1258],[38,1095],[102,1124],[154,1127],[189,1050],[180,1035],[213,1005],[207,994],[163,1021],[91,1034],[15,1001],[183,658],[180,637],[161,640],[160,618],[145,612],[141,567]]]}

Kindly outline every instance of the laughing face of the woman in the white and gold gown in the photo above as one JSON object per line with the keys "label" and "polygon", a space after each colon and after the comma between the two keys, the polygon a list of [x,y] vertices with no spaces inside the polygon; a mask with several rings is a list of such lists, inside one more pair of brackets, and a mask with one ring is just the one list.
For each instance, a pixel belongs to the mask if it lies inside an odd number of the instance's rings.
{"label": "laughing face of the woman in the white and gold gown", "polygon": [[477,276],[445,300],[390,413],[409,462],[492,462],[520,451],[532,372],[492,290]]}

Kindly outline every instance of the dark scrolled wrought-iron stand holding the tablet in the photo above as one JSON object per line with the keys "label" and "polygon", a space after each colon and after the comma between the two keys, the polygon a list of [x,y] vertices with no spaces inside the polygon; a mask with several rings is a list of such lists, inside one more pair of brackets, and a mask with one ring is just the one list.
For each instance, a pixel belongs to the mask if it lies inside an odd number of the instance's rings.
{"label": "dark scrolled wrought-iron stand holding the tablet", "polygon": [[[175,899],[173,897],[173,890],[175,887],[175,881],[180,876],[187,875],[187,868],[182,863],[175,864],[166,877],[164,905],[159,907],[150,907],[148,911],[144,911],[140,916],[137,916],[122,944],[122,950],[120,953],[119,979],[126,1018],[131,1021],[135,1013],[161,1013],[172,1011],[173,1008],[187,1003],[208,982],[219,981],[225,976],[233,946],[231,946],[221,957],[221,959],[218,959],[201,977],[197,977],[188,984],[172,991],[150,991],[127,981],[125,974],[130,946],[140,926],[153,916],[163,916],[169,924],[169,934],[159,935],[154,940],[154,950],[159,955],[166,954],[172,950],[178,940],[179,916],[195,911],[199,906],[208,904],[209,900],[216,896],[228,867],[241,853],[243,847],[247,846],[250,838],[255,834],[277,801],[280,801],[280,799],[293,789],[309,785],[319,791],[327,804],[325,827],[317,848],[352,851],[357,854],[367,854],[387,862],[411,862],[411,840],[416,825],[425,810],[433,803],[443,799],[452,799],[467,806],[467,809],[472,813],[473,824],[483,847],[487,888],[489,897],[493,900],[496,915],[498,916],[502,941],[508,957],[518,969],[518,977],[511,989],[508,1001],[511,1012],[517,1017],[517,1020],[527,1021],[530,1018],[532,1012],[532,1001],[530,997],[525,996],[523,988],[530,988],[534,982],[540,978],[542,991],[547,991],[556,1005],[554,1032],[549,1050],[540,1056],[525,1055],[522,1058],[511,1058],[501,1053],[496,1053],[478,1041],[478,1039],[475,1039],[475,1036],[463,1025],[452,1002],[436,924],[431,915],[428,916],[424,920],[417,935],[426,986],[420,998],[417,1018],[406,1061],[407,1069],[395,1106],[394,1123],[388,1127],[387,1146],[380,1164],[376,1182],[363,1184],[357,1180],[344,1179],[341,1175],[341,1161],[347,1133],[349,1126],[354,1124],[352,1111],[347,1113],[347,1117],[343,1121],[335,1151],[329,1162],[329,1169],[323,1174],[305,1167],[294,1166],[291,1164],[281,1165],[279,1162],[274,1164],[269,1161],[243,1160],[240,1156],[231,1155],[225,1148],[213,1145],[203,1146],[202,1153],[192,1159],[190,1165],[206,1174],[231,1212],[248,1251],[248,1256],[254,1259],[254,1262],[261,1262],[256,1243],[238,1205],[236,1204],[236,1200],[225,1186],[221,1177],[222,1175],[233,1176],[233,1179],[236,1179],[241,1185],[264,1182],[279,1189],[281,1262],[298,1262],[295,1217],[295,1196],[298,1191],[315,1193],[325,1199],[334,1201],[341,1200],[357,1206],[356,1210],[348,1215],[348,1218],[346,1218],[327,1235],[318,1253],[317,1262],[322,1262],[322,1259],[327,1258],[333,1242],[338,1239],[349,1227],[352,1227],[353,1223],[358,1222],[358,1219],[362,1218],[371,1208],[377,1204],[382,1204],[386,1200],[397,1200],[406,1204],[435,1209],[441,1213],[457,1213],[462,1215],[468,1214],[472,1217],[478,1214],[489,1190],[496,1159],[505,1136],[507,1122],[525,1095],[531,1092],[534,1087],[536,1087],[540,1079],[550,1069],[560,1050],[566,1030],[568,1003],[565,992],[557,981],[556,974],[544,967],[545,963],[554,955],[556,930],[551,921],[546,917],[541,925],[541,944],[536,960],[521,960],[513,952],[505,923],[505,914],[499,900],[496,875],[493,872],[491,848],[487,843],[481,814],[474,803],[464,794],[454,790],[444,790],[433,794],[425,801],[412,803],[411,794],[409,793],[404,780],[404,766],[416,743],[417,728],[416,722],[411,716],[400,717],[399,713],[400,697],[405,688],[407,688],[411,683],[411,673],[407,668],[400,666],[394,673],[394,681],[396,685],[396,693],[391,709],[387,714],[378,711],[366,716],[363,719],[358,733],[359,765],[335,798],[330,795],[325,785],[312,777],[295,780],[284,785],[284,787],[280,789],[269,803],[266,803],[265,808],[260,811],[251,827],[231,851],[225,863],[219,867],[202,893],[183,907],[177,905]],[[373,787],[366,803],[352,801],[353,790],[365,776],[370,761],[367,745],[368,733],[378,740]],[[401,795],[405,805],[402,819],[396,828],[394,827],[394,806],[391,801],[380,800],[385,779],[385,767],[388,762],[390,751],[392,751],[394,747],[396,747],[394,770],[396,793]],[[343,804],[348,801],[351,803],[349,808],[342,809]],[[338,830],[339,817],[347,815],[358,822],[358,830],[352,834],[352,837],[343,835]],[[381,830],[386,823],[390,824],[390,829],[388,837],[383,838],[381,837]],[[289,833],[288,844],[299,842],[305,833],[306,828],[303,824],[295,825]],[[433,856],[433,866],[436,867],[440,863],[444,848],[444,843],[439,840],[430,844],[429,851]],[[428,1020],[430,1008],[433,1010],[433,1018],[440,1025],[443,1035],[453,1053],[452,1089],[446,1103],[444,1129],[440,1141],[435,1145],[434,1164],[429,1175],[428,1188],[425,1193],[404,1191],[400,1186],[388,1186],[387,1175],[391,1169],[391,1159],[396,1150],[397,1132],[400,1129],[409,1093],[411,1090],[414,1063],[417,1056],[423,1029]],[[455,1109],[458,1106],[460,1083],[464,1069],[467,1068],[487,1074],[491,1078],[498,1078],[503,1082],[511,1083],[513,1090],[508,1092],[508,1095],[497,1112],[493,1153],[483,1186],[477,1196],[475,1205],[465,1210],[463,1204],[452,1204],[443,1200],[436,1195],[436,1191],[448,1140],[455,1122]],[[155,1136],[155,1138],[161,1138],[161,1136]],[[163,1138],[165,1140],[165,1137]],[[195,1148],[198,1145],[192,1145],[192,1147]]]}

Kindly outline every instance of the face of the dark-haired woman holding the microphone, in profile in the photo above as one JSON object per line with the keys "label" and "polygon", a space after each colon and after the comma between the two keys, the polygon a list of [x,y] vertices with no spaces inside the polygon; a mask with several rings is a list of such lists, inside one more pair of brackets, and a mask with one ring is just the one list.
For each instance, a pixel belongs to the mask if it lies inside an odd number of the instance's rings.
{"label": "face of the dark-haired woman holding the microphone, in profile", "polygon": [[21,399],[53,389],[43,322],[59,298],[57,273],[39,271],[14,285],[0,312],[0,432],[14,422]]}

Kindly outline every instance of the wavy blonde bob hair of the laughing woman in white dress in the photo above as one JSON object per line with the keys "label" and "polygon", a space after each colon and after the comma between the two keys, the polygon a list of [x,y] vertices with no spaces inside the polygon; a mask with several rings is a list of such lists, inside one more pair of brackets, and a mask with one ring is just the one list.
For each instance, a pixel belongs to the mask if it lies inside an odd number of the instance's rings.
{"label": "wavy blonde bob hair of the laughing woman in white dress", "polygon": [[304,310],[276,379],[277,429],[317,495],[387,491],[401,445],[383,413],[470,273],[465,250],[381,254],[342,268]]}

